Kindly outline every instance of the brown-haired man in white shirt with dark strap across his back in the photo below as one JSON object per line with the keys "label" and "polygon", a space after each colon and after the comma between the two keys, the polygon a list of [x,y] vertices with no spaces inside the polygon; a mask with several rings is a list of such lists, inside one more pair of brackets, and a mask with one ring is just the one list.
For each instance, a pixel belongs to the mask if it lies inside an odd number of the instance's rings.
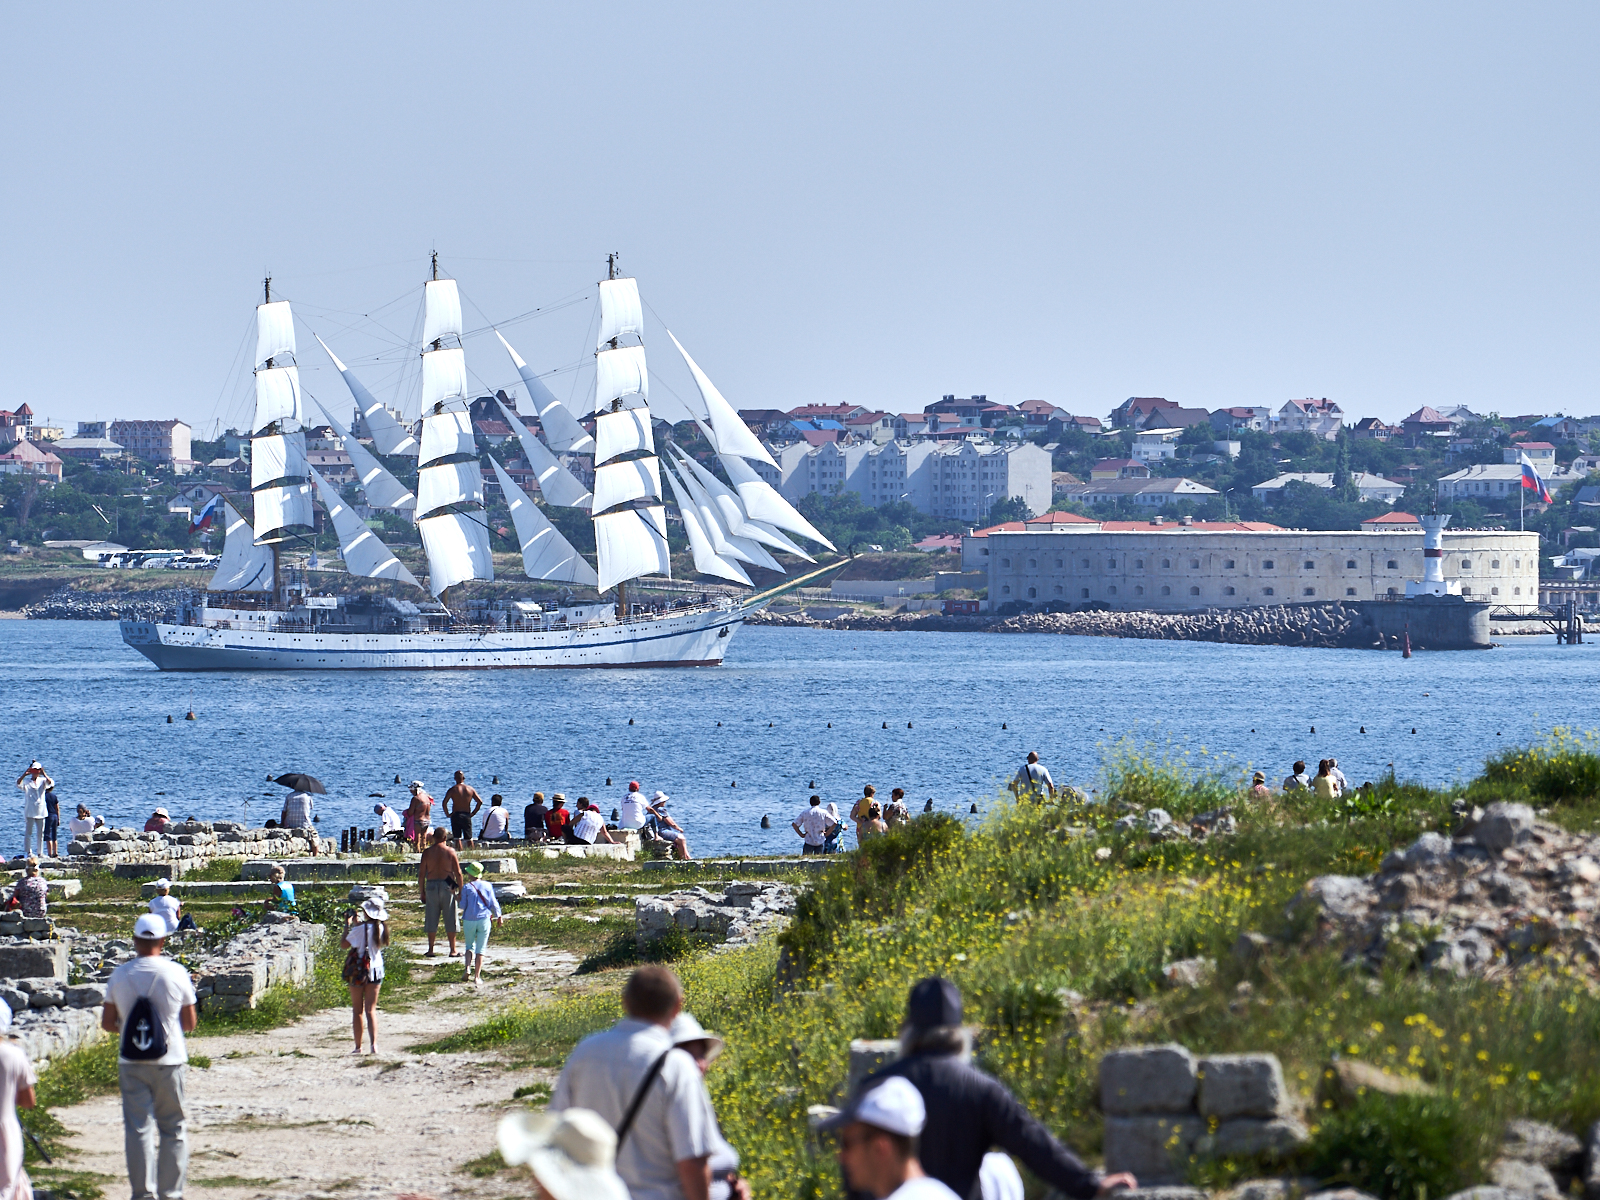
{"label": "brown-haired man in white shirt with dark strap across his back", "polygon": [[594,1109],[618,1130],[616,1173],[632,1200],[710,1194],[710,1098],[669,1032],[682,1008],[677,976],[640,966],[622,987],[627,1016],[578,1043],[550,1096],[549,1112]]}

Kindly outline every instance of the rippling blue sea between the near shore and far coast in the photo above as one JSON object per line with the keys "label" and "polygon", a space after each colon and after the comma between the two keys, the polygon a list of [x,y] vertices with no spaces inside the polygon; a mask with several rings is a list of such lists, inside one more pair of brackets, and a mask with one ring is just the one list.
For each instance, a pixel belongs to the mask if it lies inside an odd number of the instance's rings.
{"label": "rippling blue sea between the near shore and far coast", "polygon": [[[326,786],[318,826],[336,837],[374,826],[379,798],[403,805],[397,779],[442,798],[461,770],[485,798],[506,797],[518,834],[534,790],[610,813],[637,779],[670,797],[696,856],[754,856],[798,851],[789,822],[813,792],[846,810],[864,784],[904,787],[914,811],[931,800],[981,819],[1029,750],[1085,790],[1126,749],[1274,782],[1325,757],[1352,782],[1390,768],[1464,782],[1506,746],[1595,725],[1600,645],[1509,642],[1406,659],[746,627],[720,667],[187,675],[155,670],[114,621],[0,621],[0,686],[11,766],[42,760],[66,814],[86,802],[112,826],[139,827],[157,806],[259,826],[285,794],[269,776],[306,771]],[[21,846],[11,795],[6,854]]]}

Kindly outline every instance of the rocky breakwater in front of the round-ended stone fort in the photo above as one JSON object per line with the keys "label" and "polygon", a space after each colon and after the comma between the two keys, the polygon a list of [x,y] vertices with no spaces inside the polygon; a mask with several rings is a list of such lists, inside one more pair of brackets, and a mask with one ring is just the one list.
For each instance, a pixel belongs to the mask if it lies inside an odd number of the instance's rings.
{"label": "rocky breakwater in front of the round-ended stone fort", "polygon": [[1376,646],[1378,635],[1354,605],[1274,605],[1200,613],[1022,613],[1011,618],[942,613],[853,613],[830,621],[800,614],[758,614],[750,624],[810,629],[1072,634],[1157,642],[1224,642],[1242,646]]}

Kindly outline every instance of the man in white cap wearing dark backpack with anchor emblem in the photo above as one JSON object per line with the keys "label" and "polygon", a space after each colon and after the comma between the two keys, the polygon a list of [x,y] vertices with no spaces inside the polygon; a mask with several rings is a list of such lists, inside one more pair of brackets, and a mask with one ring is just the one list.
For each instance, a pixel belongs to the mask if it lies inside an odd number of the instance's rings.
{"label": "man in white cap wearing dark backpack with anchor emblem", "polygon": [[189,1174],[184,1034],[195,1027],[189,971],[162,955],[166,923],[147,912],[133,923],[134,957],[110,973],[101,1029],[120,1034],[123,1149],[131,1200],[182,1200]]}

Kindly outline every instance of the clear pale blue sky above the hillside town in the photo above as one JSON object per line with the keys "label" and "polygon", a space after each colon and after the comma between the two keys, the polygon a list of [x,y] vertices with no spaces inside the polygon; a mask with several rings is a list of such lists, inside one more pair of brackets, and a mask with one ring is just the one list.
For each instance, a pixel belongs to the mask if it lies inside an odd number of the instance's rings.
{"label": "clear pale blue sky above the hillside town", "polygon": [[[738,408],[1104,414],[1330,397],[1589,414],[1582,3],[26,5],[0,408],[250,419],[294,302],[416,411],[429,254],[469,366],[592,387],[621,254]],[[246,339],[250,346],[246,346]]]}

